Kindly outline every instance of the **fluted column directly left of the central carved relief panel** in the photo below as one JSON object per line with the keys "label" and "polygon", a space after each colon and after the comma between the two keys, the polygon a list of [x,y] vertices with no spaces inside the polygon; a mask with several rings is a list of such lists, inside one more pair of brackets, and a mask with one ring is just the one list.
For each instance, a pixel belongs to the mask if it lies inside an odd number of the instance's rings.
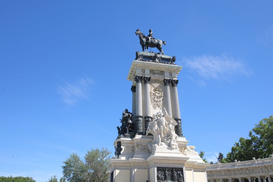
{"label": "fluted column directly left of the central carved relief panel", "polygon": [[144,76],[144,84],[145,84],[145,134],[146,130],[148,128],[148,125],[150,122],[152,122],[152,116],[151,116],[151,108],[150,108],[150,81],[151,77],[150,76]]}

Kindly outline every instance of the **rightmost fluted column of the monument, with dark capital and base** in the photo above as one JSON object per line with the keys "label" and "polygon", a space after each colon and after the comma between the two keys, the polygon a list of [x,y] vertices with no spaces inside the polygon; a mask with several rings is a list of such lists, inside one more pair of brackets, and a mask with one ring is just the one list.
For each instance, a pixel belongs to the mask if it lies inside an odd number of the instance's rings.
{"label": "rightmost fluted column of the monument, with dark capital and base", "polygon": [[178,93],[177,93],[177,84],[178,80],[171,80],[172,88],[173,88],[173,102],[174,102],[174,111],[175,111],[175,121],[178,125],[175,126],[175,133],[178,136],[183,136],[182,126],[181,126],[181,118],[180,118],[180,109],[178,102]]}

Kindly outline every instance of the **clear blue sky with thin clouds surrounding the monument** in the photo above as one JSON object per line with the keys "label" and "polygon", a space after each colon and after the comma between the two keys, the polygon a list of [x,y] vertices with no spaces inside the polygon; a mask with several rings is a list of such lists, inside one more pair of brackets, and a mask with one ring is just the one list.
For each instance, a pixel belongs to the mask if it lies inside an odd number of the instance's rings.
{"label": "clear blue sky with thin clouds surrounding the monument", "polygon": [[[182,130],[216,161],[272,115],[272,1],[1,1],[0,176],[45,182],[91,148],[114,149],[135,30],[183,66]],[[152,13],[148,13],[152,10]],[[152,51],[157,51],[155,48]],[[12,158],[12,156],[14,156]]]}

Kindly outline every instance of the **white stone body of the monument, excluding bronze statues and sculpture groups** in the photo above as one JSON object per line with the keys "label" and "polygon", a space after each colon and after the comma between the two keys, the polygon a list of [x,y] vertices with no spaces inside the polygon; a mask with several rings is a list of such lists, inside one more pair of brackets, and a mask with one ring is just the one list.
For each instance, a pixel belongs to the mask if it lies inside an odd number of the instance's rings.
{"label": "white stone body of the monument, excluding bronze statues and sculpture groups", "polygon": [[[127,79],[132,81],[132,87],[136,90],[134,92],[132,89],[132,113],[135,113],[135,117],[143,117],[143,132],[137,132],[134,137],[118,137],[115,140],[114,145],[121,142],[123,150],[119,158],[116,156],[110,160],[109,181],[112,175],[113,182],[158,182],[158,168],[173,167],[183,169],[184,182],[207,182],[206,167],[209,163],[203,162],[194,146],[187,146],[189,141],[182,135],[182,131],[176,135],[177,130],[173,128],[179,122],[181,128],[177,94],[177,75],[181,69],[177,65],[133,61]],[[146,77],[146,80],[140,82],[139,76]],[[177,80],[176,84],[172,84],[171,80]],[[164,113],[165,108],[175,122],[172,127],[170,119],[165,118],[169,124],[168,131],[172,129],[176,136],[173,140],[169,139],[167,144],[154,144],[151,147],[154,136],[145,133],[145,117],[152,117],[152,121],[155,121],[154,114]]]}

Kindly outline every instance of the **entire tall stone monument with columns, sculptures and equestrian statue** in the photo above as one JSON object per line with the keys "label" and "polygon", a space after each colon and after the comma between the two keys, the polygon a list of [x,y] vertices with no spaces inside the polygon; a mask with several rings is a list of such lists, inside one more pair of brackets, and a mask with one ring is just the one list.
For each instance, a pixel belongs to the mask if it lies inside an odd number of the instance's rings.
{"label": "entire tall stone monument with columns, sculptures and equestrian statue", "polygon": [[[150,45],[156,39],[146,40]],[[142,43],[140,39],[142,48],[147,46]],[[132,62],[127,76],[132,81],[132,112],[125,109],[117,127],[108,180],[207,182],[209,163],[187,145],[182,133],[177,92],[182,67],[175,65],[175,56],[163,55],[158,48],[161,53],[136,52]]]}

